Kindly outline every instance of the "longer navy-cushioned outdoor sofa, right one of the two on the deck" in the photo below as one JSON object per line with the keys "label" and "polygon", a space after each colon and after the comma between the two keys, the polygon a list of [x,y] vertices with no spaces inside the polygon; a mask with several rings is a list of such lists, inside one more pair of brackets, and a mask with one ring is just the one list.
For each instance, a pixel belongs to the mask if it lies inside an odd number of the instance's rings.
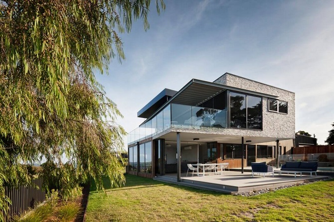
{"label": "longer navy-cushioned outdoor sofa, right one of the two on the deck", "polygon": [[302,173],[315,173],[317,176],[318,162],[286,162],[281,167],[281,171],[295,171]]}

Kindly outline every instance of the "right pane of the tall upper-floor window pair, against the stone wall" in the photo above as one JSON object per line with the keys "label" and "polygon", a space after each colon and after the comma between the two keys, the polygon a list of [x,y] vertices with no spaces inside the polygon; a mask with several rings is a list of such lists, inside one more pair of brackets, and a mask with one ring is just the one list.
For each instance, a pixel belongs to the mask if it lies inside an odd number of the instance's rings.
{"label": "right pane of the tall upper-floor window pair, against the stone wall", "polygon": [[262,98],[247,95],[247,128],[262,129]]}

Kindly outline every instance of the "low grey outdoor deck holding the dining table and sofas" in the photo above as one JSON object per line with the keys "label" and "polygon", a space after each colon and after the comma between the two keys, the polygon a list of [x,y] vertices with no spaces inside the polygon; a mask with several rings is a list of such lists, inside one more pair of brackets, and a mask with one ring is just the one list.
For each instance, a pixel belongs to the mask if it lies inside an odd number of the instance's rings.
{"label": "low grey outdoor deck holding the dining table and sofas", "polygon": [[303,176],[295,177],[294,174],[282,174],[279,176],[275,173],[272,175],[263,176],[254,175],[251,172],[225,171],[223,175],[205,175],[193,176],[188,173],[181,174],[181,182],[177,182],[176,174],[167,174],[165,176],[158,176],[155,180],[174,183],[182,186],[194,187],[198,189],[211,190],[227,194],[244,193],[254,190],[262,190],[265,188],[274,189],[286,185],[293,185],[302,183],[305,180],[314,181],[327,178],[329,176],[310,176],[310,174],[303,174]]}

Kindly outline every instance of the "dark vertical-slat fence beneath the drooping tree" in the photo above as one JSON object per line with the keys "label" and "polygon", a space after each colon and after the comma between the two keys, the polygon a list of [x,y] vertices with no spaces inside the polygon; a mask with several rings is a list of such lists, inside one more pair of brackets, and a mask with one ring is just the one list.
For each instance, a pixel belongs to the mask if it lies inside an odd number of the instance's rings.
{"label": "dark vertical-slat fence beneath the drooping tree", "polygon": [[21,215],[33,208],[36,203],[45,201],[45,190],[42,189],[42,179],[33,180],[34,186],[19,186],[18,188],[5,187],[5,195],[9,197],[11,205],[7,215],[1,209],[1,214],[4,216],[4,221],[9,222],[14,215]]}

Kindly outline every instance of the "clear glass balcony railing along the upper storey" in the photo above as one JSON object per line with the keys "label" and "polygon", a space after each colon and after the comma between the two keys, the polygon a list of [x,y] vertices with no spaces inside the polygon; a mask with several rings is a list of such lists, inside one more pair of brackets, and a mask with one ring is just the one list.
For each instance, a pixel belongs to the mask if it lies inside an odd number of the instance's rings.
{"label": "clear glass balcony railing along the upper storey", "polygon": [[155,117],[128,134],[128,144],[157,135],[169,128],[226,128],[226,110],[170,104]]}

